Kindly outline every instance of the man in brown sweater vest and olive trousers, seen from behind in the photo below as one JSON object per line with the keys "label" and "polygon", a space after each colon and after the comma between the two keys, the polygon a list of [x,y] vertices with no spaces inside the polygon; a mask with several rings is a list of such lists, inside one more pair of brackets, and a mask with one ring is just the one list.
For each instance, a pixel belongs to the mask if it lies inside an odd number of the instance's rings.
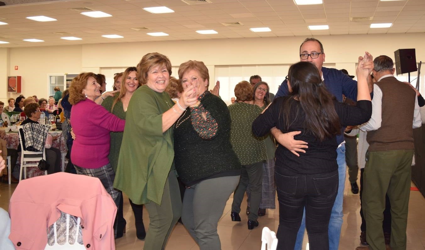
{"label": "man in brown sweater vest and olive trousers, seen from behind", "polygon": [[[394,77],[394,63],[388,56],[374,59],[372,117],[360,127],[368,131],[369,149],[363,176],[363,212],[368,247],[385,250],[382,211],[385,194],[391,203],[392,250],[406,249],[406,226],[410,195],[411,163],[414,154],[413,129],[422,125],[415,91]],[[388,247],[388,246],[387,246]]]}

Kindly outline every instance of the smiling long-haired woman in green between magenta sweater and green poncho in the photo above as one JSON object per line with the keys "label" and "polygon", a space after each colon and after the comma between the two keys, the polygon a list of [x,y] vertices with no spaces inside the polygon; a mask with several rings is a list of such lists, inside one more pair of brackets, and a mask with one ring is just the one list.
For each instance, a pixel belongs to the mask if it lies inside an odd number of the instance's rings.
{"label": "smiling long-haired woman in green between magenta sweater and green poncho", "polygon": [[[139,80],[137,79],[137,68],[128,67],[124,73],[121,74],[123,79],[123,88],[119,93],[116,93],[113,98],[106,98],[102,102],[102,106],[106,108],[109,112],[118,116],[119,118],[125,120],[125,114],[127,112],[128,103],[130,98],[133,96],[134,91],[140,87]],[[123,132],[111,132],[111,148],[109,151],[109,162],[112,165],[113,170],[116,172],[118,166],[118,156],[119,149],[121,148]],[[130,205],[134,213],[134,222],[136,224],[136,236],[138,239],[144,239],[146,232],[144,230],[143,224],[143,205],[134,204],[131,199]],[[123,199],[119,200],[119,208],[116,213],[117,216],[117,233],[116,238],[122,237],[122,234],[125,233],[125,225],[127,222],[123,216]]]}

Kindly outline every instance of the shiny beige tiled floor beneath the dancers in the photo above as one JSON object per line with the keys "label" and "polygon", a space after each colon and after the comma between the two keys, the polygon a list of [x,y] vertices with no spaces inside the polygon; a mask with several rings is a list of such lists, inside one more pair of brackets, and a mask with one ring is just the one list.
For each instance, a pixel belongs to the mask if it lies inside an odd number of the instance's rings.
{"label": "shiny beige tiled floor beneath the dancers", "polygon": [[[9,199],[17,184],[0,184],[0,207],[8,209]],[[413,184],[412,184],[413,185]],[[130,250],[142,249],[144,241],[136,238],[134,216],[127,197],[124,199],[124,217],[127,220],[127,232],[124,237],[116,240],[116,249]],[[245,201],[244,201],[245,202]],[[221,239],[223,250],[259,250],[261,249],[261,228],[269,227],[276,231],[278,228],[278,211],[267,210],[266,216],[258,219],[260,226],[254,230],[248,230],[246,226],[247,216],[241,213],[241,222],[232,222],[230,209],[232,197],[227,201],[223,216],[218,222],[218,234]],[[358,194],[352,194],[348,180],[344,192],[344,222],[341,230],[340,249],[354,250],[360,245],[360,200]],[[425,250],[425,198],[419,191],[410,192],[409,216],[407,225],[407,249]],[[246,208],[246,202],[242,204],[242,211]],[[145,227],[149,225],[149,217],[146,209],[143,212]],[[178,223],[171,234],[166,250],[196,250],[199,247],[187,233],[183,225]],[[303,249],[309,249],[308,239],[305,236]]]}

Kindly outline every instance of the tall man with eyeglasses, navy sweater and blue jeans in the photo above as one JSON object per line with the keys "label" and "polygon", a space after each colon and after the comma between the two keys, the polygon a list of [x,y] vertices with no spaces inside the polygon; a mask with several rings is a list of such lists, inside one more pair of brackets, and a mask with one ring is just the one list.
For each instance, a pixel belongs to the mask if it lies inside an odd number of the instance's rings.
{"label": "tall man with eyeglasses, navy sweater and blue jeans", "polygon": [[[342,73],[340,70],[333,68],[323,67],[325,62],[325,53],[323,51],[322,43],[315,38],[307,38],[300,46],[300,61],[311,62],[319,70],[322,80],[329,92],[331,92],[338,101],[343,101],[343,95],[357,100],[357,81],[354,81],[349,76]],[[373,83],[371,78],[368,77],[369,91],[373,91]],[[280,96],[286,96],[289,94],[288,84],[285,79],[276,93],[276,98]],[[339,185],[338,194],[335,199],[334,206],[331,212],[331,218],[329,220],[329,249],[337,250],[340,241],[341,226],[343,223],[343,192],[346,179],[346,161],[345,161],[345,145],[343,132],[345,128],[341,128],[341,134],[337,135],[337,142],[339,146],[337,148],[337,163],[338,163],[338,174],[339,174]],[[300,131],[293,131],[288,133],[282,133],[280,130],[273,128],[271,130],[272,135],[278,140],[278,142],[289,149],[293,154],[299,156],[299,152],[305,153],[304,149],[308,148],[307,143],[301,140],[295,140],[294,136],[298,135]],[[307,149],[308,150],[308,149]],[[298,230],[297,242],[295,244],[295,250],[300,250],[303,243],[303,236],[305,231],[305,215],[301,222],[300,229]]]}

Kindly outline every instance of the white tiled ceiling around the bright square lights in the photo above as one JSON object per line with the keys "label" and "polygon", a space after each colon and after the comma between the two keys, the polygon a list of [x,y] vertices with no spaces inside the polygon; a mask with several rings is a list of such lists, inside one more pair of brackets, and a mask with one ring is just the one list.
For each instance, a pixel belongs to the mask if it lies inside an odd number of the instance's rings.
{"label": "white tiled ceiling around the bright square lights", "polygon": [[[1,1],[1,0],[0,0]],[[19,2],[22,2],[20,0]],[[297,6],[293,0],[210,0],[212,3],[188,5],[181,0],[59,0],[0,6],[0,48],[78,45],[111,42],[228,39],[247,37],[287,37],[341,34],[388,34],[425,32],[425,0],[323,0],[323,4]],[[201,0],[202,1],[202,0]],[[6,2],[6,0],[4,1]],[[6,3],[7,4],[7,3]],[[152,14],[142,8],[167,6],[175,11]],[[104,11],[113,17],[86,17],[71,8]],[[25,17],[44,15],[54,22],[36,22]],[[371,21],[350,21],[352,17],[371,17]],[[226,27],[221,23],[241,22]],[[371,29],[371,23],[394,23],[391,28]],[[329,25],[329,30],[310,31],[308,25]],[[271,32],[254,33],[249,28],[269,27]],[[131,28],[148,28],[134,31]],[[195,31],[213,29],[218,34]],[[54,34],[66,32],[69,35]],[[147,32],[165,32],[152,37]],[[109,39],[106,34],[124,38]],[[79,37],[68,41],[60,37]],[[23,39],[45,42],[25,42]]]}

